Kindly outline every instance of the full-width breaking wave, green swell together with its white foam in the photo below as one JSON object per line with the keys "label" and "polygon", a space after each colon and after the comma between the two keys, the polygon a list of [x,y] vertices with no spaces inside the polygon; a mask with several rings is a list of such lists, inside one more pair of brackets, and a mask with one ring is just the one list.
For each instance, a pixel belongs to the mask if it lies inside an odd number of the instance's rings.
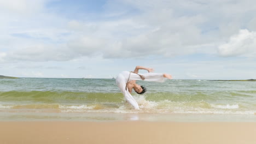
{"label": "full-width breaking wave, green swell together with its white foam", "polygon": [[1,111],[254,114],[256,91],[173,91],[133,94],[134,110],[120,92],[0,92]]}

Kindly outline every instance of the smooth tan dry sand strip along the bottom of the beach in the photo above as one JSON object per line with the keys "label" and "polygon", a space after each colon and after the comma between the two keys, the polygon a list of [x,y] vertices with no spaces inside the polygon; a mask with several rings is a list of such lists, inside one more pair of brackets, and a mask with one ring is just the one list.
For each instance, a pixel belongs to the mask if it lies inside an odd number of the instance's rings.
{"label": "smooth tan dry sand strip along the bottom of the beach", "polygon": [[1,144],[256,143],[256,123],[0,122]]}

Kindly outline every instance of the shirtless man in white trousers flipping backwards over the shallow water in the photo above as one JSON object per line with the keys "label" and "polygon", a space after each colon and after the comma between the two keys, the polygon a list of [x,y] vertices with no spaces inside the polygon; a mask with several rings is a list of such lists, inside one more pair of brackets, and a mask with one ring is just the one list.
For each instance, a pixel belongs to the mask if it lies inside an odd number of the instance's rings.
{"label": "shirtless man in white trousers flipping backwards over the shallow water", "polygon": [[[148,73],[139,74],[139,69],[147,70]],[[124,94],[126,101],[128,101],[135,109],[139,109],[139,106],[137,101],[131,95],[132,89],[138,94],[143,94],[147,91],[145,87],[138,85],[136,80],[164,82],[165,78],[172,79],[172,76],[169,74],[151,73],[153,71],[154,69],[152,68],[137,66],[134,71],[123,71],[115,79],[115,82],[117,82],[118,87]]]}

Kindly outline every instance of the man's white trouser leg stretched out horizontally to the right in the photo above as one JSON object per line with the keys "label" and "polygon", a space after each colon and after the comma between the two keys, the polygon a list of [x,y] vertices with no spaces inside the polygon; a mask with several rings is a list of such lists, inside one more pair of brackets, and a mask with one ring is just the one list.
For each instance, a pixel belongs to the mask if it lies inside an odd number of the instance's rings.
{"label": "man's white trouser leg stretched out horizontally to the right", "polygon": [[[146,74],[139,74],[145,77],[144,81],[155,81],[155,82],[164,82],[165,77],[164,74],[159,73],[146,73]],[[131,73],[129,80],[142,80],[138,74]]]}

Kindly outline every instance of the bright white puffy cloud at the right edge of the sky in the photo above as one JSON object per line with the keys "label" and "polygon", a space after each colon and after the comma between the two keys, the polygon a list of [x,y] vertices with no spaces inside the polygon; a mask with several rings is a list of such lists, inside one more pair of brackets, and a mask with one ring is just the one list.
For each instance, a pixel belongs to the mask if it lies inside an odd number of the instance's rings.
{"label": "bright white puffy cloud at the right edge of the sky", "polygon": [[228,43],[220,45],[218,52],[221,56],[255,56],[256,32],[241,29]]}

